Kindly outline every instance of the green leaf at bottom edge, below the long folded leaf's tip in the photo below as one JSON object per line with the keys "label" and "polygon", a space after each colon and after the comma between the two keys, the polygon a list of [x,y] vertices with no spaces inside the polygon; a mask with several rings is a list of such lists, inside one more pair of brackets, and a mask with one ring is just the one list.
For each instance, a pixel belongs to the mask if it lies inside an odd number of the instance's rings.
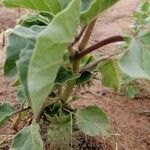
{"label": "green leaf at bottom edge, below the long folded leaf's tip", "polygon": [[23,128],[15,136],[10,150],[43,150],[43,141],[39,130],[40,127],[36,123]]}

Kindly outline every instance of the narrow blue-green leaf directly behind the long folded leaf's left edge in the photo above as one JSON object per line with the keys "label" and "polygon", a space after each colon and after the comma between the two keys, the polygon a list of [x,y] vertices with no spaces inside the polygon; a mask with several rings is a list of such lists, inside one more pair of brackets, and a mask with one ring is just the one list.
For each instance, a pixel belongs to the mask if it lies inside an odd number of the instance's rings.
{"label": "narrow blue-green leaf directly behind the long folded leaf's left edge", "polygon": [[32,26],[31,28],[19,26],[14,31],[17,35],[24,37],[24,40],[27,40],[27,45],[24,49],[21,50],[20,58],[17,61],[17,69],[20,76],[20,81],[23,85],[24,92],[27,97],[29,97],[27,85],[29,63],[35,47],[36,37],[44,28],[44,26],[41,27],[36,25]]}

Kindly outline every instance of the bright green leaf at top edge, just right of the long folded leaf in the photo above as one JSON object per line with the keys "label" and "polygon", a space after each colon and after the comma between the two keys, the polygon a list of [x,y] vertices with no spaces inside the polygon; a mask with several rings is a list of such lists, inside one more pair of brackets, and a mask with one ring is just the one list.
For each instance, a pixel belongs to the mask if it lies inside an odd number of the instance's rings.
{"label": "bright green leaf at top edge, just right of the long folded leaf", "polygon": [[86,3],[84,2],[89,6],[89,8],[81,12],[81,24],[82,25],[89,24],[98,15],[106,11],[108,8],[110,8],[118,1],[119,0],[93,0],[91,3],[89,1],[87,1]]}

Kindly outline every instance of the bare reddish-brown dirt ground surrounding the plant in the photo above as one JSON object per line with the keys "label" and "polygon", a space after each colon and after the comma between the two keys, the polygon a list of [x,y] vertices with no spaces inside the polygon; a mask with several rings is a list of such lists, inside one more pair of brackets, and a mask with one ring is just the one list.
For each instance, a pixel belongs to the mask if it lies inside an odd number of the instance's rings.
{"label": "bare reddish-brown dirt ground surrounding the plant", "polygon": [[[139,2],[140,0],[121,0],[98,20],[90,44],[127,31],[132,18],[131,14]],[[0,8],[0,31],[13,27],[18,16],[16,10]],[[104,50],[112,47],[108,46]],[[4,57],[4,52],[0,51],[1,64]],[[113,136],[108,139],[97,138],[106,144],[106,150],[150,150],[150,118],[142,115],[143,112],[150,112],[150,84],[144,81],[140,87],[142,89],[140,95],[132,100],[115,94],[109,89],[106,89],[106,95],[102,97],[99,94],[101,86],[95,82],[90,91],[94,91],[97,95],[88,93],[83,95],[82,101],[75,103],[76,106],[95,104],[107,112]],[[5,80],[0,72],[0,101],[11,102],[15,105],[15,94],[16,91],[11,87],[10,81]],[[7,131],[6,128],[0,129],[0,142],[2,134],[5,137],[13,134],[11,125],[8,124],[7,127]]]}

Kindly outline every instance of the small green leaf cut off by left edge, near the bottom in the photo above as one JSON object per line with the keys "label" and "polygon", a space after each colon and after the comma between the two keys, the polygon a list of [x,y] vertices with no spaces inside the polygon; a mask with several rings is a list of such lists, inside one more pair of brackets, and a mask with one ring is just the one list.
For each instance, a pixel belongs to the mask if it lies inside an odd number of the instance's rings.
{"label": "small green leaf cut off by left edge, near the bottom", "polygon": [[0,128],[9,120],[15,110],[16,109],[8,103],[0,104]]}

